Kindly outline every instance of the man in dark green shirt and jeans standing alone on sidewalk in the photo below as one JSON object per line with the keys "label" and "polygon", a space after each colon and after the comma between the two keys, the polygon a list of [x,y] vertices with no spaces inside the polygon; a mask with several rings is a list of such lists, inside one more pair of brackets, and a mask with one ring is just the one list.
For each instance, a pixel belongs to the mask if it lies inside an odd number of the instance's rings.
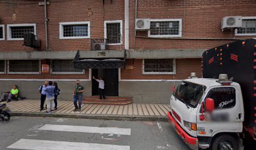
{"label": "man in dark green shirt and jeans standing alone on sidewalk", "polygon": [[[83,92],[85,91],[85,88],[80,83],[80,80],[77,80],[77,85],[75,85],[75,91],[74,91],[74,106],[75,109],[73,111],[81,111],[81,105],[82,105],[82,98],[83,98]],[[77,101],[78,101],[78,106],[77,106]]]}

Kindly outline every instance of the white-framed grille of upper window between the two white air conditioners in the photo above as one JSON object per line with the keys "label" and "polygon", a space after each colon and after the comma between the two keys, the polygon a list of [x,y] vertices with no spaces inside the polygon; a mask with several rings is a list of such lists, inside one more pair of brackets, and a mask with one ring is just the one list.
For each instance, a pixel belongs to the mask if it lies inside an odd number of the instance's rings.
{"label": "white-framed grille of upper window between the two white air conditioners", "polygon": [[151,21],[151,36],[179,35],[179,21]]}

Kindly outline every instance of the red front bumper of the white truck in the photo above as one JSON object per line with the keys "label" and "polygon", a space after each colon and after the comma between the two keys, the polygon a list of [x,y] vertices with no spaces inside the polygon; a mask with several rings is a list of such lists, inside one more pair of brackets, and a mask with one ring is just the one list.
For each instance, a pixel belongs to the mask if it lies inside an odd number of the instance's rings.
{"label": "red front bumper of the white truck", "polygon": [[168,113],[169,123],[173,125],[174,129],[176,130],[176,133],[183,139],[183,141],[188,144],[188,147],[191,149],[198,149],[198,138],[194,138],[192,136],[189,136],[182,128],[179,126],[179,124],[175,121],[173,116],[171,115],[171,112]]}

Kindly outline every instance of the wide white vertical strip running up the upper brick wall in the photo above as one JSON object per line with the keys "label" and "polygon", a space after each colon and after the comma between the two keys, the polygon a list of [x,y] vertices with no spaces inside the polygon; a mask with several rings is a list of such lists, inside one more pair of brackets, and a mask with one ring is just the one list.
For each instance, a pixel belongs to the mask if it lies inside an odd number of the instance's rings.
{"label": "wide white vertical strip running up the upper brick wall", "polygon": [[124,1],[124,49],[129,50],[129,0]]}

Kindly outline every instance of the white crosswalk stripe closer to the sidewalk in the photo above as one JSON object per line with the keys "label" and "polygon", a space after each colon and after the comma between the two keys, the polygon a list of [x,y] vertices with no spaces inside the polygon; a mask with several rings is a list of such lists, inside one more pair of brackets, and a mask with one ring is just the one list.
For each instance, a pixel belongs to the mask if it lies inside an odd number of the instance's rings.
{"label": "white crosswalk stripe closer to the sidewalk", "polygon": [[48,131],[69,131],[78,133],[100,133],[100,134],[117,134],[117,135],[131,135],[131,129],[127,128],[101,128],[101,127],[89,127],[89,126],[66,126],[56,124],[45,124],[38,130]]}

